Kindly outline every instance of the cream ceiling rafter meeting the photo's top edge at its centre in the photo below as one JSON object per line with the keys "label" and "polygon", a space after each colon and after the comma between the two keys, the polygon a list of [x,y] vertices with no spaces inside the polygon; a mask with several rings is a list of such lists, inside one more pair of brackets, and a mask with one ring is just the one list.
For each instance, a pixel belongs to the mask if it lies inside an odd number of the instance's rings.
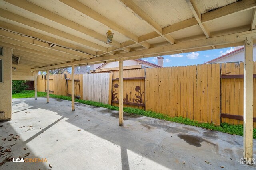
{"label": "cream ceiling rafter meeting the photo's top edge at its centre", "polygon": [[136,13],[138,18],[145,21],[146,24],[148,24],[156,33],[158,33],[161,37],[166,39],[171,44],[175,43],[175,39],[171,36],[164,36],[163,35],[163,29],[162,27],[154,21],[146,12],[144,12],[137,4],[135,4],[132,0],[120,0],[124,5],[126,5],[126,8],[130,8],[134,13]]}

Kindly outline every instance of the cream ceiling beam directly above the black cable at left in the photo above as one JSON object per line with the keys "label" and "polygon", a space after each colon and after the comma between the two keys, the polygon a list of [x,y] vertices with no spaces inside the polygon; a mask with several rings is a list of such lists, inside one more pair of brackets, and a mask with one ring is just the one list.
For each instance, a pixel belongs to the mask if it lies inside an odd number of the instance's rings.
{"label": "cream ceiling beam directly above the black cable at left", "polygon": [[0,27],[3,29],[6,29],[6,30],[14,31],[16,33],[20,33],[22,35],[34,37],[35,39],[40,39],[42,41],[52,43],[54,45],[73,49],[74,51],[80,51],[81,53],[85,53],[85,55],[87,55],[87,52],[90,52],[91,55],[96,55],[96,51],[87,51],[87,49],[85,49],[84,47],[80,47],[80,46],[68,43],[66,41],[62,41],[60,39],[56,39],[56,38],[47,36],[47,35],[43,35],[41,33],[37,33],[37,32],[31,31],[31,30],[19,27],[17,25],[12,25],[12,24],[6,23],[4,21],[0,21]]}

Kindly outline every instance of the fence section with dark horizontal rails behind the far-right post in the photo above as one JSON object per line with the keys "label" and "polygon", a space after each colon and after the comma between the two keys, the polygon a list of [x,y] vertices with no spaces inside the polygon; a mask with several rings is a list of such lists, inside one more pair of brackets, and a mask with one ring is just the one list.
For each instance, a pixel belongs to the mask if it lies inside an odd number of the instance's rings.
{"label": "fence section with dark horizontal rails behind the far-right post", "polygon": [[[256,63],[253,68],[253,126],[256,127]],[[232,125],[243,123],[244,63],[221,64],[221,121]]]}

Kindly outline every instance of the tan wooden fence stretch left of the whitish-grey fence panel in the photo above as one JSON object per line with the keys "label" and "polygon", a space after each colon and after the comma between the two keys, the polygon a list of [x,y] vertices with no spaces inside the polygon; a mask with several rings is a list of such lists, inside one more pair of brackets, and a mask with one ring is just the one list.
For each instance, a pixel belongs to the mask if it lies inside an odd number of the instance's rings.
{"label": "tan wooden fence stretch left of the whitish-grey fence panel", "polygon": [[[38,75],[37,91],[46,92],[46,75]],[[71,74],[53,74],[49,75],[50,94],[70,96],[71,95]],[[83,76],[75,74],[75,96],[83,99]]]}

